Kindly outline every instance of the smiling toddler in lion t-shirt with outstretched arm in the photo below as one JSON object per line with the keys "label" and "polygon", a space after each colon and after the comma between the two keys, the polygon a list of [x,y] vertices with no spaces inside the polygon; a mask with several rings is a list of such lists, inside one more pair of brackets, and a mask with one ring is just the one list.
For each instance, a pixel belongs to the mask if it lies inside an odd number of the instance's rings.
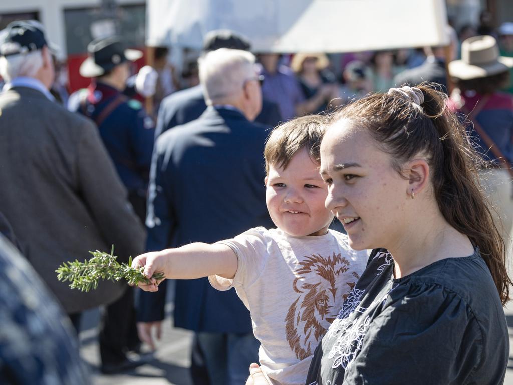
{"label": "smiling toddler in lion t-shirt with outstretched arm", "polygon": [[[214,244],[192,243],[135,258],[147,277],[209,278],[235,287],[261,342],[260,364],[273,384],[303,384],[313,351],[367,263],[367,253],[328,229],[327,185],[319,174],[324,118],[297,118],[267,140],[266,203],[277,228],[256,227]],[[158,290],[157,282],[140,284]]]}

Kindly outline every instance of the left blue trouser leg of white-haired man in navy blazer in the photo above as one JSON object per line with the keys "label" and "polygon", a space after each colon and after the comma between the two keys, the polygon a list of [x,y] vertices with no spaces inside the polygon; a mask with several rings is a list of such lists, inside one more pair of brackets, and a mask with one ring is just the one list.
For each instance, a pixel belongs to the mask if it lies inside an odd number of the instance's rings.
{"label": "left blue trouser leg of white-haired man in navy blazer", "polygon": [[211,385],[226,385],[228,383],[227,334],[201,332],[196,336],[205,357]]}

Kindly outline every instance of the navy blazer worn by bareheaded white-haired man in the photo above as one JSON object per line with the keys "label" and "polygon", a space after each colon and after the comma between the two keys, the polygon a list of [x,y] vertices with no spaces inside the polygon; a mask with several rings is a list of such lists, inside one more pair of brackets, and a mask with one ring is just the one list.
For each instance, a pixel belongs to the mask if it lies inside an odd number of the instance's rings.
{"label": "navy blazer worn by bareheaded white-haired man", "polygon": [[[251,227],[273,226],[265,204],[266,137],[265,126],[238,110],[214,107],[162,134],[151,166],[148,250],[212,243]],[[165,286],[140,294],[139,320],[164,319]],[[207,278],[177,280],[174,325],[214,333],[252,331],[235,291],[217,291]]]}

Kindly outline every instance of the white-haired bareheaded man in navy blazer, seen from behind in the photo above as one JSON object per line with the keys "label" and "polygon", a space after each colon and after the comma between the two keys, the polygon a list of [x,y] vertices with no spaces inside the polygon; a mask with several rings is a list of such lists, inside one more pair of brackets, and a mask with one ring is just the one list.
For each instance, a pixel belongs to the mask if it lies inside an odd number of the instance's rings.
{"label": "white-haired bareheaded man in navy blazer, seen from behind", "polygon": [[[265,126],[252,123],[262,95],[255,57],[221,48],[200,61],[207,109],[163,133],[151,165],[148,251],[215,242],[255,226],[272,226],[265,205]],[[163,283],[165,284],[165,282]],[[165,287],[140,293],[139,331],[164,318]],[[258,359],[249,312],[234,291],[214,290],[206,278],[176,282],[174,325],[196,332],[211,384],[240,384]]]}

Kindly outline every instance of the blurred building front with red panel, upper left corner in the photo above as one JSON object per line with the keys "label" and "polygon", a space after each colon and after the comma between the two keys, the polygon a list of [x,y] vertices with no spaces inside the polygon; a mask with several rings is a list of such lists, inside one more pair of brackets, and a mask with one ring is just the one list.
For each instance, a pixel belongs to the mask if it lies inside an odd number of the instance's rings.
{"label": "blurred building front with red panel, upper left corner", "polygon": [[[130,47],[144,48],[146,0],[15,0],[0,2],[0,29],[13,20],[43,23],[50,41],[59,47],[57,59],[67,64],[70,91],[87,87],[78,74],[87,44],[96,37],[123,35]],[[137,62],[137,67],[144,59]]]}

